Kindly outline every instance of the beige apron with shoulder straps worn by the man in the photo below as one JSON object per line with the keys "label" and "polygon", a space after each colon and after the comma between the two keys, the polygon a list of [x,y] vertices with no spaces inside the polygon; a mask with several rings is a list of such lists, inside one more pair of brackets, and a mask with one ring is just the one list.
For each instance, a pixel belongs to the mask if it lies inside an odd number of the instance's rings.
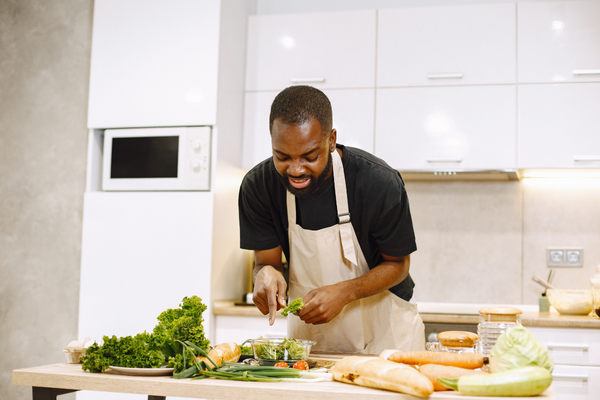
{"label": "beige apron with shoulder straps worn by the man", "polygon": [[[295,196],[287,192],[290,239],[289,300],[312,289],[366,274],[369,266],[348,213],[342,160],[333,151],[333,180],[340,223],[317,231],[296,224]],[[425,350],[425,328],[416,304],[385,290],[347,304],[326,324],[306,324],[288,316],[288,337],[311,339],[313,351],[379,354],[385,349]]]}

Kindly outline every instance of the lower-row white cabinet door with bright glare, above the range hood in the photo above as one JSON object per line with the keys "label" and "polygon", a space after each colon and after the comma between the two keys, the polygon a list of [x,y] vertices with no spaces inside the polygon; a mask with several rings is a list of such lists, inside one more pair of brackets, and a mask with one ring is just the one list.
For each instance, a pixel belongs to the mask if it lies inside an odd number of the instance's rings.
{"label": "lower-row white cabinet door with bright glare, above the range hood", "polygon": [[516,167],[516,88],[377,90],[375,154],[401,171]]}

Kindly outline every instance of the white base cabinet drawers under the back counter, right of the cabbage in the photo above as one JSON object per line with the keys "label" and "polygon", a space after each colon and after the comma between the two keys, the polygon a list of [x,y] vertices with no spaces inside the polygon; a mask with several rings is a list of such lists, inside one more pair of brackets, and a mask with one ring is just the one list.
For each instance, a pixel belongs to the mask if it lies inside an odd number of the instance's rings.
{"label": "white base cabinet drawers under the back counter, right of the cabbage", "polygon": [[528,327],[554,360],[557,400],[592,400],[600,393],[600,331]]}

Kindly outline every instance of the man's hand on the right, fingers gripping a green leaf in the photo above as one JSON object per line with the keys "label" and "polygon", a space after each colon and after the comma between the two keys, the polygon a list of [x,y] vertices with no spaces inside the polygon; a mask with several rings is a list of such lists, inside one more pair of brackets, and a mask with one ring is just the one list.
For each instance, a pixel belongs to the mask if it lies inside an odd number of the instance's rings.
{"label": "man's hand on the right, fingers gripping a green leaf", "polygon": [[[348,281],[346,281],[348,282]],[[346,282],[313,289],[304,296],[304,307],[298,312],[307,324],[325,324],[335,318],[344,306],[353,300]]]}

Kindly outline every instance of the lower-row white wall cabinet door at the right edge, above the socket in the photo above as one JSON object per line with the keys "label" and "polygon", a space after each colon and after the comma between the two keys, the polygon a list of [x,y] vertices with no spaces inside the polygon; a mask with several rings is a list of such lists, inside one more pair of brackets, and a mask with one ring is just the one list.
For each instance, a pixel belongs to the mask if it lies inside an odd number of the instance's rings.
{"label": "lower-row white wall cabinet door at the right edge, above the socket", "polygon": [[520,85],[519,168],[600,167],[600,83]]}

